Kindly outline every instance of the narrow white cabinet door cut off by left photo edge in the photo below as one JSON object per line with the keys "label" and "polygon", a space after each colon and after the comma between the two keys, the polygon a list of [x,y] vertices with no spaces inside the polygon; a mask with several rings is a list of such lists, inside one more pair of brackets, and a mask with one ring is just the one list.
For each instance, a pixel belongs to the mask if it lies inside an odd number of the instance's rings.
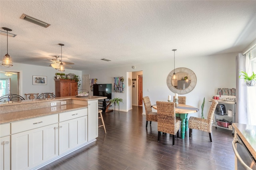
{"label": "narrow white cabinet door cut off by left photo edge", "polygon": [[0,170],[10,170],[10,136],[0,138]]}

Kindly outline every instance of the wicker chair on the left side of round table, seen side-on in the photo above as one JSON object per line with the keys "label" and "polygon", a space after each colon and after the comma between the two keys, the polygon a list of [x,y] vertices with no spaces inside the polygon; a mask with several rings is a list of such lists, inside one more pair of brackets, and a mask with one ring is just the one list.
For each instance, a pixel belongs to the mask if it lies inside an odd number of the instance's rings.
{"label": "wicker chair on the left side of round table, seen side-on", "polygon": [[142,97],[142,99],[146,110],[146,128],[148,128],[148,121],[150,121],[150,125],[151,121],[157,122],[157,112],[152,112],[152,105],[148,96]]}

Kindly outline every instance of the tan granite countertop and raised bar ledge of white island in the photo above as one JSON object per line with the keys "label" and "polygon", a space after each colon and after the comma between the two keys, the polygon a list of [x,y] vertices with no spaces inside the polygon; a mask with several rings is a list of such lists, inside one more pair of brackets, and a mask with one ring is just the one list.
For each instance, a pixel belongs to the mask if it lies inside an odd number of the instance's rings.
{"label": "tan granite countertop and raised bar ledge of white island", "polygon": [[[89,96],[89,97],[54,97],[50,99],[32,99],[21,100],[18,102],[7,102],[0,105],[0,124],[32,119],[46,115],[58,114],[66,111],[88,108],[87,104],[71,101],[90,101],[106,99],[107,97]],[[52,111],[50,103],[56,101],[56,110]],[[66,105],[60,105],[61,101],[66,101]],[[87,102],[86,102],[87,103]]]}

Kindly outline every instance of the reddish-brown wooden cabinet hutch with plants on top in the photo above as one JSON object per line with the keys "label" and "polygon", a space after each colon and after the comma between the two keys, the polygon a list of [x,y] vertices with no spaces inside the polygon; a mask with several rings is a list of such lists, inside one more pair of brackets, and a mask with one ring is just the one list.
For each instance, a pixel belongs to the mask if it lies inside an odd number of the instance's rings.
{"label": "reddish-brown wooden cabinet hutch with plants on top", "polygon": [[77,91],[77,82],[70,79],[55,80],[56,97],[75,96]]}

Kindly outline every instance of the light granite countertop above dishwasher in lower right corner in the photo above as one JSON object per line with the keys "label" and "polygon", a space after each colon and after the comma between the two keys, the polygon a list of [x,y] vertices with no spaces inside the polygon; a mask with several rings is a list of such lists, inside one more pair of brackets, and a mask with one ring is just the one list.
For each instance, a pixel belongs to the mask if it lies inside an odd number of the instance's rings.
{"label": "light granite countertop above dishwasher in lower right corner", "polygon": [[232,126],[252,156],[256,159],[256,126],[240,123],[232,123]]}

